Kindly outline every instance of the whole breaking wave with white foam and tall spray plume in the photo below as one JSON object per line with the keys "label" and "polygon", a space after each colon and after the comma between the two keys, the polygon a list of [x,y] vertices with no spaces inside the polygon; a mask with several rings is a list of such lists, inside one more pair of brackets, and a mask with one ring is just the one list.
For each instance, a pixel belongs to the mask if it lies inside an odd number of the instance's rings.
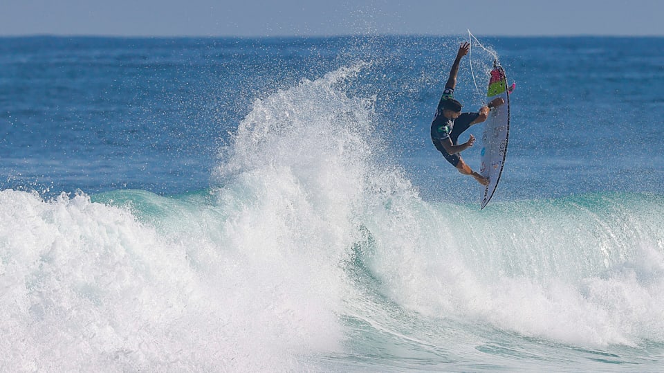
{"label": "whole breaking wave with white foam and tall spray plume", "polygon": [[256,99],[209,189],[1,190],[1,370],[661,370],[661,194],[423,198],[363,69]]}

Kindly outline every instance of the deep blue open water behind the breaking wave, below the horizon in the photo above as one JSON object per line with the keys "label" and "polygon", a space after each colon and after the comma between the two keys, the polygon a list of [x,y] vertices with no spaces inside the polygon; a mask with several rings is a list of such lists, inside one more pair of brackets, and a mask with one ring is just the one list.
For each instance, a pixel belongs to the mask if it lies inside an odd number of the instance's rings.
{"label": "deep blue open water behind the breaking wave, below the horizon", "polygon": [[[3,39],[1,167],[8,177],[1,186],[55,194],[208,188],[217,150],[253,100],[365,61],[371,66],[344,89],[376,96],[375,135],[390,143],[423,194],[436,190],[441,177],[453,184],[445,191],[457,194],[472,183],[459,188],[464,180],[432,151],[427,127],[458,41]],[[662,39],[486,43],[499,52],[518,87],[510,167],[497,197],[658,190]],[[474,51],[481,63],[486,55]],[[464,62],[457,96],[467,107],[479,107],[481,95]],[[465,156],[471,165],[478,158],[473,152]],[[454,177],[447,179],[450,173]]]}

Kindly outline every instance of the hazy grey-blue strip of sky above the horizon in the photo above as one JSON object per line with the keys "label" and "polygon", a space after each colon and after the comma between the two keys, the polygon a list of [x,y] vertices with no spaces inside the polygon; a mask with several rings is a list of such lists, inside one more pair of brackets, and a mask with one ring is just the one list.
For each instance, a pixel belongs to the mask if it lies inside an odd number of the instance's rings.
{"label": "hazy grey-blue strip of sky above the horizon", "polygon": [[0,36],[664,36],[664,0],[0,0]]}

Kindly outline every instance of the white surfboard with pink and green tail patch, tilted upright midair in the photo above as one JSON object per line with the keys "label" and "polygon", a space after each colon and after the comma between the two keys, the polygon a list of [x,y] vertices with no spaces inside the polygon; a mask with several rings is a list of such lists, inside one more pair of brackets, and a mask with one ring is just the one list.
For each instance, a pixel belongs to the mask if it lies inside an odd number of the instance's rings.
{"label": "white surfboard with pink and green tail patch, tilted upright midair", "polygon": [[503,98],[505,103],[491,109],[482,135],[483,147],[479,173],[489,179],[489,184],[484,188],[481,209],[486,207],[486,204],[489,203],[496,192],[505,165],[507,143],[510,135],[509,93],[505,71],[497,61],[494,61],[486,93],[487,102],[500,97]]}

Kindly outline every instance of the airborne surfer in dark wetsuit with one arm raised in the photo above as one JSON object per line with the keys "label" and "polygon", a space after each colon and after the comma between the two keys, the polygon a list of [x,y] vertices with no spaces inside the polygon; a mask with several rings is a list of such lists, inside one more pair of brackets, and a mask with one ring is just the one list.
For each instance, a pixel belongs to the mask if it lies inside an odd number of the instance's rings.
{"label": "airborne surfer in dark wetsuit with one arm raised", "polygon": [[443,96],[436,108],[436,115],[431,123],[431,140],[436,149],[443,154],[448,162],[452,163],[454,167],[457,167],[457,170],[459,170],[461,174],[470,175],[480,184],[488,185],[489,179],[474,172],[470,166],[461,159],[461,152],[472,147],[475,142],[475,136],[472,136],[471,134],[468,141],[463,144],[458,144],[457,140],[459,139],[459,135],[461,135],[466,129],[470,128],[470,126],[477,125],[477,123],[486,120],[489,116],[490,109],[504,104],[505,101],[502,98],[496,98],[481,107],[478,112],[461,113],[461,102],[454,100],[454,87],[457,85],[459,63],[461,62],[461,58],[468,54],[468,51],[470,51],[470,43],[461,43],[461,46],[459,46],[459,52],[457,52],[457,58],[454,59],[454,64],[452,64],[452,69],[450,69],[450,78],[448,78],[448,82],[445,83]]}

